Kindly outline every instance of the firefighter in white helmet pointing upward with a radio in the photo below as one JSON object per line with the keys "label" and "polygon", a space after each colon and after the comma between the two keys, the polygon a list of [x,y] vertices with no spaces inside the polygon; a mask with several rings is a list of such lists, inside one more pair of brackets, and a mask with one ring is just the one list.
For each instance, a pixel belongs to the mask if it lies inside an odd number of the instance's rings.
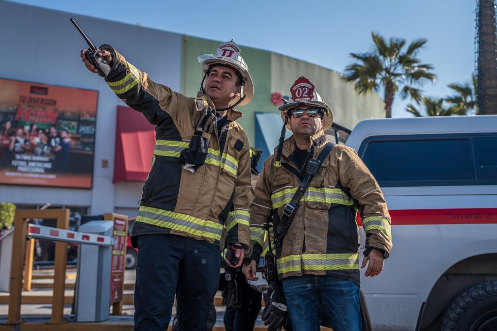
{"label": "firefighter in white helmet pointing upward with a radio", "polygon": [[[131,237],[139,249],[135,330],[167,330],[175,294],[178,330],[204,330],[219,284],[223,229],[231,266],[250,249],[250,153],[234,108],[253,97],[248,66],[233,40],[199,56],[203,79],[190,98],[156,83],[113,47],[100,50],[110,64],[105,82],[157,132]],[[84,65],[96,73],[84,52]]]}

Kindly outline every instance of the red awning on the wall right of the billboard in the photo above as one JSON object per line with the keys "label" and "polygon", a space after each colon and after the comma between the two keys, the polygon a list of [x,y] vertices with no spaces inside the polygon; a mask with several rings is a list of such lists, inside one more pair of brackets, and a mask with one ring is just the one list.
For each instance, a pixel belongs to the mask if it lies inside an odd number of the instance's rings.
{"label": "red awning on the wall right of the billboard", "polygon": [[113,183],[145,182],[152,166],[155,133],[143,114],[117,107]]}

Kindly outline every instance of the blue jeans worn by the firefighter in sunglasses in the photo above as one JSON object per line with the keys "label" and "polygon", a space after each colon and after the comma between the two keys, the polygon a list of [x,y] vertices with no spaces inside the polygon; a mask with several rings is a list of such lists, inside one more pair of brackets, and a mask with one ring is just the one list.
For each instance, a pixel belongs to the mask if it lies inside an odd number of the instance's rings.
{"label": "blue jeans worn by the firefighter in sunglasses", "polygon": [[305,274],[283,279],[283,290],[294,331],[320,330],[321,301],[333,331],[360,331],[362,328],[359,286],[354,282]]}

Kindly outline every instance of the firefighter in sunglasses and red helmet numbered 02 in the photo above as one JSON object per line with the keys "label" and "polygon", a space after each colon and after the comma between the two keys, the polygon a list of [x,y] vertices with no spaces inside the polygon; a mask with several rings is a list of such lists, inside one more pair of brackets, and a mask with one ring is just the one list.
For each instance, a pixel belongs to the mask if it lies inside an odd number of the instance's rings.
{"label": "firefighter in sunglasses and red helmet numbered 02", "polygon": [[[251,204],[250,231],[272,215],[276,276],[274,292],[262,316],[273,329],[289,315],[296,331],[319,330],[320,300],[333,331],[361,330],[359,302],[359,231],[356,208],[366,233],[365,276],[383,269],[391,241],[387,204],[378,183],[355,150],[327,141],[330,107],[305,77],[292,85],[281,106],[280,144],[266,159]],[[285,127],[293,135],[284,140]],[[262,246],[253,241],[248,279]]]}

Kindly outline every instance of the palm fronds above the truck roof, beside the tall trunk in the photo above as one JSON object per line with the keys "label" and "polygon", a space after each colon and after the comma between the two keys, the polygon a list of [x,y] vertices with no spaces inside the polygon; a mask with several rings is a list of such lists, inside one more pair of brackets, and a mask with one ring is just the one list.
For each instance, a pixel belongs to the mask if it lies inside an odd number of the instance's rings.
{"label": "palm fronds above the truck roof, beside the tall trunk", "polygon": [[447,86],[456,93],[445,98],[452,105],[455,114],[478,115],[478,80],[474,74],[471,75],[471,83],[452,83]]}

